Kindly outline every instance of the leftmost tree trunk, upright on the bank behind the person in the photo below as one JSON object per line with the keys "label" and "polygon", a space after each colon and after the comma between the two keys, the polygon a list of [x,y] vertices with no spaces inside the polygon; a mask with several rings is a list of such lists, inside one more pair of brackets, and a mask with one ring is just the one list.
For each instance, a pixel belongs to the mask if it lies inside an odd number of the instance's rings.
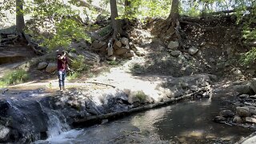
{"label": "leftmost tree trunk, upright on the bank behind the person", "polygon": [[22,0],[16,0],[16,32],[22,34],[25,27]]}

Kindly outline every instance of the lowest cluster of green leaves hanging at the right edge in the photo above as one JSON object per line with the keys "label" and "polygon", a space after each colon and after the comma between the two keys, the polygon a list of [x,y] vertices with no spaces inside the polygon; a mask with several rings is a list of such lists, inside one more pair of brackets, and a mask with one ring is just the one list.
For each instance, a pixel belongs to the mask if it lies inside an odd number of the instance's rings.
{"label": "lowest cluster of green leaves hanging at the right edge", "polygon": [[242,62],[242,65],[249,65],[250,63],[254,62],[255,59],[256,59],[256,47],[242,54],[240,58],[240,62]]}

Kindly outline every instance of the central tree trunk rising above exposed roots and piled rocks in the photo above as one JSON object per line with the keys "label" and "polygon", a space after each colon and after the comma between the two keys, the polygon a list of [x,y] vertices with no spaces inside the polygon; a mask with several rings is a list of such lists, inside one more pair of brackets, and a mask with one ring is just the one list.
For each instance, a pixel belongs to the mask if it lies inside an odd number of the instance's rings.
{"label": "central tree trunk rising above exposed roots and piled rocks", "polygon": [[118,34],[121,34],[121,25],[118,18],[118,8],[116,0],[110,0],[110,9],[111,9],[111,23],[114,30],[113,38],[116,39]]}

